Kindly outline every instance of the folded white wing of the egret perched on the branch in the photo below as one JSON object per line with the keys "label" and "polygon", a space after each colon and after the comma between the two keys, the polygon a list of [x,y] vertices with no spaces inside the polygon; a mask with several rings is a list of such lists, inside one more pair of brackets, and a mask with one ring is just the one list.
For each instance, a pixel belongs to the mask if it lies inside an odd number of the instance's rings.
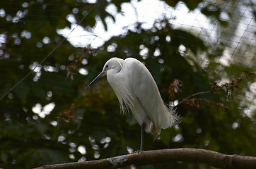
{"label": "folded white wing of the egret perched on the branch", "polygon": [[155,80],[146,66],[135,58],[127,58],[122,68],[133,95],[129,106],[139,124],[146,124],[146,132],[158,132],[173,125],[175,114],[165,106]]}

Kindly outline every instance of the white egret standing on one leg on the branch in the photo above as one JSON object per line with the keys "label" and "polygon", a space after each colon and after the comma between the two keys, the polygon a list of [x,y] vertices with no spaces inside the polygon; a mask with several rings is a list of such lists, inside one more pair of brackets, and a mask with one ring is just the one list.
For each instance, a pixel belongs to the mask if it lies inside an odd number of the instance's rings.
{"label": "white egret standing on one leg on the branch", "polygon": [[144,130],[160,134],[161,129],[178,123],[178,116],[175,111],[165,106],[155,80],[143,63],[135,58],[110,58],[105,63],[103,71],[88,84],[88,87],[106,74],[107,81],[120,102],[122,112],[132,111],[141,125],[141,151]]}

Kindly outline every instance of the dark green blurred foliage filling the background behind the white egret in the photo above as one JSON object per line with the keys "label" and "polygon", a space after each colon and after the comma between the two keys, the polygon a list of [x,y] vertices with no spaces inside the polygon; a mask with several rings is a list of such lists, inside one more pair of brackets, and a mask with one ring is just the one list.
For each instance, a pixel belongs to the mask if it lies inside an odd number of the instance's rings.
{"label": "dark green blurred foliage filling the background behind the white egret", "polygon": [[[189,1],[187,6],[194,9],[199,2]],[[122,3],[112,3],[120,12]],[[175,6],[177,1],[166,3]],[[63,37],[56,30],[71,27],[67,15],[72,13],[79,21],[93,5],[71,0],[1,2],[6,13],[0,18],[0,34],[5,39],[0,46],[1,96],[61,42]],[[105,18],[113,17],[105,11],[107,5],[107,1],[99,1],[81,25],[91,30],[95,16],[99,16],[107,29]],[[202,12],[211,15],[205,9]],[[181,46],[185,51],[180,50]],[[224,49],[219,50],[222,53]],[[130,148],[139,149],[139,125],[132,115],[120,115],[117,98],[107,80],[99,80],[88,90],[85,90],[86,84],[100,73],[105,61],[114,56],[134,57],[145,63],[165,103],[209,91],[222,77],[236,82],[246,76],[245,70],[252,72],[252,68],[245,65],[225,67],[216,63],[214,52],[200,37],[174,29],[166,18],[156,20],[149,30],[138,23],[136,32],[129,30],[125,36],[112,37],[99,49],[77,49],[65,41],[32,75],[1,99],[0,167],[33,168],[88,161],[127,154]],[[202,54],[209,59],[206,68],[198,61]],[[86,68],[89,74],[81,75],[79,68]],[[170,99],[169,87],[174,79],[180,80],[182,86]],[[240,104],[244,99],[241,96],[253,80],[253,73],[240,80],[229,90],[230,96],[227,88],[219,87],[194,96],[192,99],[199,101],[196,106],[179,104],[175,108],[182,123],[163,130],[156,142],[152,142],[155,135],[147,134],[145,149],[193,147],[256,156],[255,112],[245,115],[248,104]],[[212,104],[207,104],[209,102]],[[46,116],[40,115],[48,104],[54,104],[54,109]],[[38,113],[33,111],[36,105],[40,108]],[[85,147],[82,149],[85,151],[78,147]],[[198,168],[199,165],[163,163],[148,167]]]}

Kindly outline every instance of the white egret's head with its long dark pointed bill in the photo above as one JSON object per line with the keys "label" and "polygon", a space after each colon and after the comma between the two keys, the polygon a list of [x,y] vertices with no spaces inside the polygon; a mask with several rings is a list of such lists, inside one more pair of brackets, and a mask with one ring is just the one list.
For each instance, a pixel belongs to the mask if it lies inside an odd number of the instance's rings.
{"label": "white egret's head with its long dark pointed bill", "polygon": [[122,65],[124,63],[124,60],[122,60],[121,58],[110,58],[110,60],[108,60],[104,67],[103,67],[103,70],[101,71],[101,73],[95,77],[95,79],[90,83],[88,84],[88,86],[86,87],[86,89],[88,87],[91,87],[91,84],[93,84],[93,82],[95,82],[96,80],[98,80],[101,76],[104,76],[107,74],[107,71],[111,70],[115,73],[118,73],[120,72],[120,70],[122,69]]}

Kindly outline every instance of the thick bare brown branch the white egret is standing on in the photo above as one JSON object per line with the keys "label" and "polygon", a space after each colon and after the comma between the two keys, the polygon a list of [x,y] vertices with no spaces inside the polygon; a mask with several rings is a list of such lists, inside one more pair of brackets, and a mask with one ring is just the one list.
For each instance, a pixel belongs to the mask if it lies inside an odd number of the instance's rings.
{"label": "thick bare brown branch the white egret is standing on", "polygon": [[79,163],[43,165],[36,169],[120,168],[126,165],[146,165],[163,162],[205,163],[216,168],[256,168],[256,157],[226,155],[205,149],[163,149]]}

